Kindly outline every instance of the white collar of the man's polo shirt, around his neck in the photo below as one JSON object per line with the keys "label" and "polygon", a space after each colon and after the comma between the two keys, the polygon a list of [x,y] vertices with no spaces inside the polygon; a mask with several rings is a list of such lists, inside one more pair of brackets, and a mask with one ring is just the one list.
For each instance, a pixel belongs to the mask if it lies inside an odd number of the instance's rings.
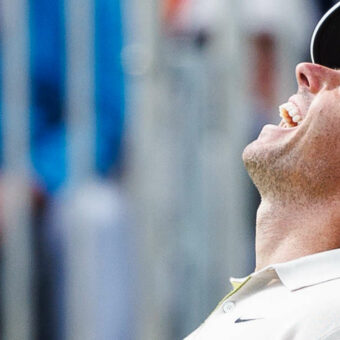
{"label": "white collar of the man's polo shirt, around his neck", "polygon": [[[285,263],[270,265],[250,277],[262,277],[268,272],[276,272],[282,284],[289,290],[297,290],[319,283],[340,279],[340,249],[316,253]],[[234,288],[246,278],[231,278]]]}

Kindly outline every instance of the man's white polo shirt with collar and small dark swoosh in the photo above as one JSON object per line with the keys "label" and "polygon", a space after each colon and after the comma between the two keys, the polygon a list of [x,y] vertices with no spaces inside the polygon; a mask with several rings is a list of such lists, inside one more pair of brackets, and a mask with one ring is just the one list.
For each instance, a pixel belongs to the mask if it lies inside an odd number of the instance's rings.
{"label": "man's white polo shirt with collar and small dark swoosh", "polygon": [[244,279],[185,340],[340,340],[340,249]]}

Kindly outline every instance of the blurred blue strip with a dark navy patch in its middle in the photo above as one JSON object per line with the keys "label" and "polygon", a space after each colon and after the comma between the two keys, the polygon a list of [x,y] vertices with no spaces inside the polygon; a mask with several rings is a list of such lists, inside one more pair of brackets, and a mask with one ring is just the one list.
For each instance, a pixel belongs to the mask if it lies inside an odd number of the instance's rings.
{"label": "blurred blue strip with a dark navy patch in its middle", "polygon": [[66,177],[65,42],[62,1],[30,2],[31,155],[49,191]]}

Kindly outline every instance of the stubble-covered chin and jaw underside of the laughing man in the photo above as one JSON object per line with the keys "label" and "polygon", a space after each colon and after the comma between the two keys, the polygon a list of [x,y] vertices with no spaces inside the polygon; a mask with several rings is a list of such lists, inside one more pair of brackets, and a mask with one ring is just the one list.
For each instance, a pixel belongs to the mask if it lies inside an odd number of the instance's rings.
{"label": "stubble-covered chin and jaw underside of the laughing man", "polygon": [[[305,206],[307,203],[328,199],[340,178],[326,161],[307,162],[284,149],[266,150],[256,144],[243,151],[244,166],[263,198],[280,204]],[[338,175],[339,176],[339,175]],[[336,191],[336,190],[335,190]]]}

